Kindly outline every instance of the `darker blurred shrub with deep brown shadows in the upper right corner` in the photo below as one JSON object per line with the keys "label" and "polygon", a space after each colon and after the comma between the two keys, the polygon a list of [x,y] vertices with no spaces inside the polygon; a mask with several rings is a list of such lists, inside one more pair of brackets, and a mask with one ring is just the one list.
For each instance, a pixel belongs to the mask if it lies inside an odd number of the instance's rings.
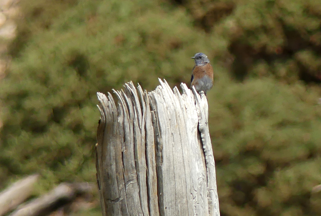
{"label": "darker blurred shrub with deep brown shadows in the upper right corner", "polygon": [[[217,58],[236,78],[321,81],[321,3],[314,0],[180,1],[207,32],[226,40]],[[222,50],[223,51],[223,50]]]}

